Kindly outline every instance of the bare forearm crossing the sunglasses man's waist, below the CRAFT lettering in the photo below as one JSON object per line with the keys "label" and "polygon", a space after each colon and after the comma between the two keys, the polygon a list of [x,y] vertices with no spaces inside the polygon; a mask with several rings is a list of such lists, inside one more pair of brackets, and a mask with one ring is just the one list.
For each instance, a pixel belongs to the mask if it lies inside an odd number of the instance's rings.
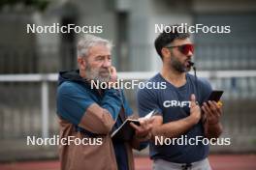
{"label": "bare forearm crossing the sunglasses man's waist, below the CRAFT lettering", "polygon": [[164,137],[178,137],[185,133],[187,130],[192,128],[196,122],[189,116],[184,119],[155,126],[152,129],[152,135],[154,136],[164,136]]}

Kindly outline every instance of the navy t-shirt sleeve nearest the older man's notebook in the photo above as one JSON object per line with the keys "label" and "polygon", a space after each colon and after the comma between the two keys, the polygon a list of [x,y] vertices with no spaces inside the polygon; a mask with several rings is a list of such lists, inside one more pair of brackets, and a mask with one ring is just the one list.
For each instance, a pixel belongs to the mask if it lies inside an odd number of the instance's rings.
{"label": "navy t-shirt sleeve nearest the older man's notebook", "polygon": [[137,92],[137,106],[140,117],[144,117],[152,110],[156,110],[157,114],[162,115],[162,109],[157,102],[157,95],[154,90],[139,89]]}

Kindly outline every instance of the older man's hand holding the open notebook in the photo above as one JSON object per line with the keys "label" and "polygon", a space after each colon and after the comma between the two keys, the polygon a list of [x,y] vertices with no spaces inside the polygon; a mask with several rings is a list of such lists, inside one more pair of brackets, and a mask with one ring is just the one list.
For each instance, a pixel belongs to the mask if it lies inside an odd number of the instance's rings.
{"label": "older man's hand holding the open notebook", "polygon": [[139,119],[140,121],[140,126],[137,126],[133,123],[131,123],[131,127],[135,129],[135,137],[143,142],[146,140],[149,140],[151,138],[151,129],[152,129],[152,123],[153,123],[153,119],[144,119],[141,118]]}

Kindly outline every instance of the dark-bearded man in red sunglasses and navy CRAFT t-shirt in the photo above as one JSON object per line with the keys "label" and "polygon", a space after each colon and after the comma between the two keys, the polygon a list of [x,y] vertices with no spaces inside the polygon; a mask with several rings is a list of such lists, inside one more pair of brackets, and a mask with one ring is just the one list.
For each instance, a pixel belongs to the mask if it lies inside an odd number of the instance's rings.
{"label": "dark-bearded man in red sunglasses and navy CRAFT t-shirt", "polygon": [[[156,38],[155,48],[163,67],[148,80],[166,82],[167,88],[139,90],[139,114],[144,116],[152,109],[158,112],[149,144],[153,169],[209,170],[208,145],[202,141],[196,143],[196,139],[217,138],[221,134],[222,111],[215,101],[207,100],[212,91],[208,81],[187,72],[192,65],[194,45],[188,33],[180,33],[176,28],[174,25],[170,33],[163,32]],[[160,143],[161,137],[171,139],[172,143]],[[180,138],[183,142],[177,143]]]}

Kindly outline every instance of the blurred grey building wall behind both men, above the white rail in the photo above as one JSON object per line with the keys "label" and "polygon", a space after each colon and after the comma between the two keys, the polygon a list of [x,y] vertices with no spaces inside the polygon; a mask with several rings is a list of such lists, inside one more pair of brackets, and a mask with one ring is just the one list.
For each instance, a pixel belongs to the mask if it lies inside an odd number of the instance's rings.
{"label": "blurred grey building wall behind both men, above the white rail", "polygon": [[[117,71],[158,71],[162,62],[154,49],[155,24],[204,23],[231,25],[231,34],[193,34],[198,43],[195,61],[201,70],[255,69],[256,2],[203,0],[74,0],[54,1],[43,13],[11,11],[0,14],[1,72],[55,72],[76,68],[76,42],[63,34],[24,33],[26,23],[51,25],[73,17],[76,24],[102,25],[97,34],[112,40],[113,65]],[[59,3],[56,3],[59,2]],[[72,38],[72,35],[70,35]],[[16,40],[16,41],[13,41]],[[212,45],[213,43],[213,45]],[[204,46],[202,46],[203,44]],[[22,49],[18,47],[22,45]],[[16,47],[14,47],[16,46]],[[212,47],[213,46],[213,47]],[[69,48],[70,47],[70,48]],[[10,50],[11,49],[11,50]],[[24,51],[25,50],[25,51]],[[71,51],[72,50],[72,51]],[[243,60],[239,62],[241,56]],[[222,59],[223,58],[223,59]],[[17,64],[13,60],[17,59]],[[232,62],[230,62],[232,61]],[[222,65],[222,66],[219,66]]]}

